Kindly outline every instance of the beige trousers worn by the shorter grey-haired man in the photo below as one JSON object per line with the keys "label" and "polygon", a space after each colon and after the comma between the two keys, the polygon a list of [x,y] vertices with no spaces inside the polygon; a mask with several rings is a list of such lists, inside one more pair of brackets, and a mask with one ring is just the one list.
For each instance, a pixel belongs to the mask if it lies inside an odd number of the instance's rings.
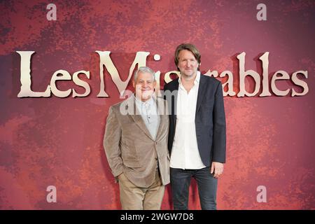
{"label": "beige trousers worn by the shorter grey-haired man", "polygon": [[123,210],[160,210],[165,192],[159,172],[148,188],[139,188],[130,182],[125,174],[118,176],[120,203]]}

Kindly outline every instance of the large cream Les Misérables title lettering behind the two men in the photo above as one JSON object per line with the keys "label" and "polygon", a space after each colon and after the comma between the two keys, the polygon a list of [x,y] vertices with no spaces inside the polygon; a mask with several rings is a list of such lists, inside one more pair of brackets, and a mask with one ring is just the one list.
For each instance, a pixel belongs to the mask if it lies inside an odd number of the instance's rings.
{"label": "large cream Les Mis\u00e9rables title lettering behind the two men", "polygon": [[[50,80],[50,85],[47,86],[45,92],[35,92],[31,90],[31,55],[34,54],[34,51],[16,51],[21,57],[21,64],[20,64],[20,82],[21,88],[20,92],[18,93],[18,97],[50,97],[51,94],[55,95],[56,97],[69,97],[72,92],[72,97],[86,97],[90,94],[91,89],[90,85],[81,80],[78,75],[84,74],[88,79],[90,79],[90,71],[76,71],[73,73],[73,76],[66,70],[58,70],[52,74],[52,78]],[[118,88],[118,91],[121,95],[126,90],[127,85],[132,78],[132,72],[134,71],[135,67],[138,66],[146,66],[146,58],[150,55],[150,52],[142,52],[139,51],[134,58],[134,62],[130,66],[129,76],[127,80],[121,80],[119,73],[116,69],[116,66],[113,64],[110,54],[110,51],[96,51],[99,55],[99,77],[100,77],[100,86],[99,86],[99,93],[97,97],[109,97],[109,94],[105,92],[105,83],[104,83],[104,66],[106,67],[107,71],[109,71],[109,75],[113,80],[113,83]],[[268,65],[269,65],[269,52],[265,52],[261,57],[259,57],[260,61],[262,62],[262,76],[256,71],[247,70],[245,71],[245,52],[241,52],[237,55],[237,59],[239,61],[239,92],[237,93],[237,97],[255,97],[258,92],[260,92],[260,87],[262,87],[262,92],[259,94],[259,97],[267,97],[271,96],[272,93],[276,96],[286,96],[289,94],[291,90],[291,97],[295,96],[303,96],[309,92],[309,87],[307,83],[300,79],[297,75],[304,76],[307,78],[307,71],[295,71],[292,73],[291,76],[286,71],[279,70],[276,71],[271,80],[268,77]],[[160,60],[159,57],[155,60]],[[165,73],[165,82],[169,83],[172,78],[171,74],[176,73],[179,76],[179,71],[169,71]],[[218,77],[218,71],[208,71],[208,76],[214,76],[215,78]],[[220,73],[221,78],[227,76],[227,81],[223,83],[223,96],[235,96],[236,92],[233,90],[233,73],[231,71],[222,71]],[[251,77],[255,83],[255,89],[253,92],[247,92],[245,86],[245,78]],[[262,77],[262,78],[261,78]],[[303,79],[304,79],[303,78]],[[160,71],[155,72],[155,79],[157,80],[157,91],[160,90]],[[74,89],[69,90],[58,90],[56,86],[57,80],[73,80],[73,83],[76,85],[83,87],[85,92],[78,93]],[[286,90],[279,90],[276,87],[276,81],[278,80],[291,80],[295,87],[299,87],[302,91],[296,91],[294,87],[291,89],[288,88]],[[271,92],[269,90],[269,81],[271,82]],[[226,86],[226,87],[225,87]],[[227,91],[225,91],[227,90]]]}

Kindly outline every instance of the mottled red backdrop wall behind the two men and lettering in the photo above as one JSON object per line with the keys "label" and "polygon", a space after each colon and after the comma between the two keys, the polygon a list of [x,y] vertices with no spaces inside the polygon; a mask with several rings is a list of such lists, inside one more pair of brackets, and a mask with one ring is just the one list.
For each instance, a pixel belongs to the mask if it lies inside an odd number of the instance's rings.
{"label": "mottled red backdrop wall behind the two men and lettering", "polygon": [[[55,3],[57,20],[46,19]],[[314,1],[264,1],[267,21],[256,19],[260,1],[1,1],[0,3],[0,209],[120,209],[119,189],[102,146],[109,106],[119,92],[104,71],[109,98],[99,98],[99,57],[111,58],[127,78],[137,51],[147,65],[175,70],[173,52],[183,42],[202,53],[201,70],[229,70],[246,52],[246,69],[261,73],[269,52],[269,77],[307,70],[302,97],[225,97],[227,164],[218,183],[218,209],[315,209]],[[92,92],[75,98],[18,98],[20,56],[34,50],[32,89],[44,91],[52,73],[90,71]],[[153,55],[161,55],[159,62]],[[252,80],[247,80],[246,85]],[[279,88],[294,87],[280,81]],[[81,87],[60,81],[60,90]],[[128,89],[131,89],[130,85]],[[297,88],[298,90],[298,88]],[[46,201],[56,186],[57,202]],[[258,186],[267,202],[258,203]],[[190,209],[200,209],[197,186]],[[169,186],[162,209],[172,209]]]}

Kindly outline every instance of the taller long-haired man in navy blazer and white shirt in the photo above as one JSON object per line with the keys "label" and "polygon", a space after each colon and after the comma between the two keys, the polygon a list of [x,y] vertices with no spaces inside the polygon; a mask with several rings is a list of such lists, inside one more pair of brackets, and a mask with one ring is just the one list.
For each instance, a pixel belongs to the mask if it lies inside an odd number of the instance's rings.
{"label": "taller long-haired man in navy blazer and white shirt", "polygon": [[170,112],[168,148],[174,209],[188,209],[192,177],[197,181],[202,209],[216,209],[226,148],[222,85],[200,73],[201,55],[195,45],[179,45],[174,61],[180,78],[164,87]]}

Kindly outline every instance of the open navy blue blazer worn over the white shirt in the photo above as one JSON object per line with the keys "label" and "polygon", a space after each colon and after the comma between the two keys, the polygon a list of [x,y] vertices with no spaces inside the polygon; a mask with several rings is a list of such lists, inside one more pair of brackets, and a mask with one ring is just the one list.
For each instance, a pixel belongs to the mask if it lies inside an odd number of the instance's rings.
{"label": "open navy blue blazer worn over the white shirt", "polygon": [[[172,93],[172,97],[170,94]],[[176,104],[179,90],[179,78],[172,80],[164,86],[164,98],[169,108],[169,155],[176,130]],[[223,102],[222,84],[216,78],[200,75],[200,85],[197,97],[195,115],[197,146],[205,166],[210,167],[211,162],[225,162],[226,126]]]}

